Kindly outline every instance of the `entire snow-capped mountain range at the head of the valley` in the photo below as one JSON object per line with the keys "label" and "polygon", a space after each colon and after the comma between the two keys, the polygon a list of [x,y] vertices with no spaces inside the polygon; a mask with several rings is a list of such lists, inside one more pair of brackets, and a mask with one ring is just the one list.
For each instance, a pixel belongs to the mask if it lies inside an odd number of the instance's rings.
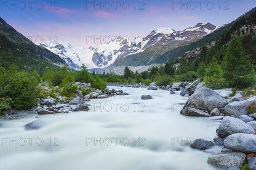
{"label": "entire snow-capped mountain range at the head of the valley", "polygon": [[42,42],[39,45],[60,56],[70,68],[79,69],[83,63],[87,68],[105,68],[113,64],[117,59],[131,54],[143,53],[145,50],[147,51],[147,56],[152,58],[155,54],[176,48],[184,42],[202,38],[218,28],[220,27],[210,23],[198,23],[194,27],[186,28],[183,31],[175,31],[172,28],[157,28],[146,37],[136,37],[134,40],[128,40],[127,37],[116,37],[111,42],[95,49],[93,47],[89,49],[73,47],[69,43],[62,41],[58,43]]}

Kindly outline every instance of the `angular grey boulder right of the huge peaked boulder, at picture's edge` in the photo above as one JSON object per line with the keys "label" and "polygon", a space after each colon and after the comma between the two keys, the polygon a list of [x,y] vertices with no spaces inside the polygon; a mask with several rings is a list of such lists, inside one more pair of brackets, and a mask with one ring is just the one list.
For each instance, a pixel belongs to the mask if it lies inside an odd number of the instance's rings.
{"label": "angular grey boulder right of the huge peaked boulder, at picture's edge", "polygon": [[241,116],[241,115],[247,115],[247,106],[256,103],[256,96],[253,96],[247,100],[241,101],[241,102],[231,102],[230,104],[226,105],[224,107],[224,113],[227,115],[236,115]]}

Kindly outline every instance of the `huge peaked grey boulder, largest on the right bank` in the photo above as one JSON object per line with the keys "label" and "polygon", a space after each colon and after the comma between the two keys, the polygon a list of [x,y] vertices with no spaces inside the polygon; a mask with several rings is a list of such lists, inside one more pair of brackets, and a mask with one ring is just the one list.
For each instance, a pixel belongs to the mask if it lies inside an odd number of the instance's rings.
{"label": "huge peaked grey boulder, largest on the right bank", "polygon": [[227,101],[209,88],[200,88],[186,101],[183,108],[191,107],[209,113],[214,108],[224,108]]}

